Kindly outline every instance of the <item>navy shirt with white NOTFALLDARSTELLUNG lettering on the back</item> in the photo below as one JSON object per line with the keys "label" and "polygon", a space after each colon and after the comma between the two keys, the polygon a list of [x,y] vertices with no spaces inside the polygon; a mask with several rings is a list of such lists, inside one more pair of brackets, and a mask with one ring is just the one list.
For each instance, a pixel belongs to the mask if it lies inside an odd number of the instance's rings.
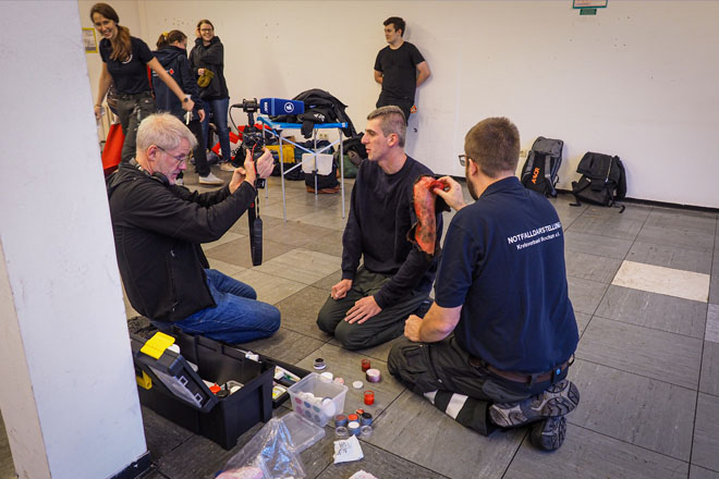
{"label": "navy shirt with white NOTFALLDARSTELLUNG lettering on the back", "polygon": [[565,271],[557,211],[512,176],[452,219],[435,300],[463,305],[454,334],[473,356],[505,371],[545,372],[578,342]]}

